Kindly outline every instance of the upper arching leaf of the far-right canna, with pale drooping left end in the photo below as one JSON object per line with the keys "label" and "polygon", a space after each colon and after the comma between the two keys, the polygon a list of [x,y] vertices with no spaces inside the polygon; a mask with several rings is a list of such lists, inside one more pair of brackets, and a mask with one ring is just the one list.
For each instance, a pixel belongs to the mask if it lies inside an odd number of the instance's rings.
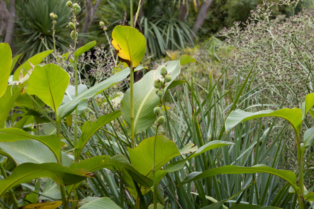
{"label": "upper arching leaf of the far-right canna, with pale drooping left end", "polygon": [[232,111],[230,115],[228,116],[225,128],[226,131],[230,131],[233,127],[235,127],[237,124],[248,121],[255,118],[261,118],[261,117],[279,117],[284,118],[287,120],[292,128],[294,128],[298,133],[300,133],[301,124],[302,124],[302,111],[299,108],[283,108],[280,110],[262,110],[258,112],[245,112],[243,110],[236,110]]}

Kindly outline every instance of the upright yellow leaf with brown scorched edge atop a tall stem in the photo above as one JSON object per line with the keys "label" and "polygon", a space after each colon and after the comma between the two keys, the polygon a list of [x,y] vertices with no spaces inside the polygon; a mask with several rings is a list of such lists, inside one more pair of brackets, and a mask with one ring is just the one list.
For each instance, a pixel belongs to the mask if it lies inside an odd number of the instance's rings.
{"label": "upright yellow leaf with brown scorched edge atop a tall stem", "polygon": [[146,40],[143,34],[133,27],[117,25],[111,37],[111,44],[121,61],[126,62],[129,67],[132,61],[133,68],[137,67],[146,51]]}

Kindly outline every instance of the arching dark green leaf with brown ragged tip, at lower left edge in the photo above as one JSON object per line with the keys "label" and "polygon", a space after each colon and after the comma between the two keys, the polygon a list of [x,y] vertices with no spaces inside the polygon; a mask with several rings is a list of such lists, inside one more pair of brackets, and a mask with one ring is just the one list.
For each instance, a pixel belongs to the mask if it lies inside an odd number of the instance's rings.
{"label": "arching dark green leaf with brown ragged tip, at lower left edge", "polygon": [[59,185],[72,185],[85,180],[89,174],[83,169],[71,170],[58,163],[23,163],[17,166],[8,178],[0,180],[0,197],[8,189],[35,178],[47,177]]}

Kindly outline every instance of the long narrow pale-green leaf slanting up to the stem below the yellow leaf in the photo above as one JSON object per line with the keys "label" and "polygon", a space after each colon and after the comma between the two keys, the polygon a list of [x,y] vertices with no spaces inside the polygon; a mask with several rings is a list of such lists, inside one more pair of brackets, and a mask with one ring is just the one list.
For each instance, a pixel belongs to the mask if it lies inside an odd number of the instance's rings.
{"label": "long narrow pale-green leaf slanting up to the stem below the yellow leaf", "polygon": [[[143,67],[138,66],[136,70],[140,70]],[[57,118],[61,120],[62,118],[68,116],[75,110],[78,103],[81,102],[84,99],[88,99],[90,97],[94,97],[96,94],[104,91],[108,87],[114,85],[115,83],[122,81],[130,74],[130,68],[126,68],[115,75],[107,78],[105,81],[102,81],[95,86],[87,89],[83,93],[79,94],[77,97],[75,97],[73,100],[65,103],[64,105],[61,105],[57,112]]]}

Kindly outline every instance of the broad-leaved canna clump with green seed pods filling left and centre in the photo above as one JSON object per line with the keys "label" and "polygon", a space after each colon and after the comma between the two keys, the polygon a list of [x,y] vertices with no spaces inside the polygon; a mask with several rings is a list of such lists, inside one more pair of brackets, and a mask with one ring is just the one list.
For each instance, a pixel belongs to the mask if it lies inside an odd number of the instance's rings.
{"label": "broad-leaved canna clump with green seed pods filling left and centre", "polygon": [[[139,1],[138,12],[141,3],[142,1]],[[158,135],[158,128],[166,120],[162,115],[163,109],[161,108],[165,92],[171,87],[181,84],[181,82],[174,81],[180,74],[181,65],[196,62],[196,60],[187,55],[182,56],[180,60],[166,62],[157,69],[149,71],[140,81],[134,83],[134,71],[143,68],[139,64],[145,55],[146,41],[144,36],[134,28],[135,24],[133,25],[131,21],[133,27],[116,26],[112,32],[111,41],[120,60],[127,63],[129,67],[87,88],[86,85],[78,84],[80,73],[77,66],[79,57],[94,47],[96,42],[89,42],[77,49],[79,30],[76,15],[80,12],[81,7],[78,3],[71,1],[68,1],[66,6],[72,11],[72,21],[68,27],[71,29],[70,36],[74,41],[74,46],[71,46],[73,59],[70,59],[74,71],[74,86],[69,85],[70,76],[60,66],[56,64],[39,65],[42,59],[51,54],[53,50],[47,50],[31,57],[9,77],[19,55],[12,58],[9,45],[7,43],[0,44],[2,58],[0,72],[3,75],[0,81],[0,168],[4,178],[0,180],[0,197],[9,196],[14,208],[18,208],[21,204],[16,199],[16,193],[12,188],[35,178],[48,177],[55,182],[54,184],[59,185],[60,198],[56,198],[56,201],[52,202],[36,203],[38,194],[34,192],[33,203],[22,206],[22,208],[49,207],[54,209],[61,205],[62,208],[81,206],[84,209],[95,208],[97,205],[106,206],[106,208],[120,208],[124,204],[123,198],[121,198],[120,206],[109,197],[80,199],[80,184],[87,178],[94,178],[95,173],[93,172],[106,168],[117,171],[123,182],[128,185],[128,190],[134,197],[135,208],[147,207],[149,202],[143,199],[143,195],[149,191],[154,194],[153,207],[157,208],[161,205],[160,203],[163,203],[163,188],[159,182],[167,173],[180,170],[186,165],[187,160],[208,150],[233,144],[215,140],[199,149],[194,144],[186,144],[178,149],[172,140]],[[135,15],[134,23],[136,23],[138,12]],[[56,18],[54,15],[56,14],[51,14],[53,21]],[[132,10],[131,16],[133,16]],[[55,50],[54,55],[56,54]],[[67,60],[67,58],[68,54],[66,53],[62,55],[61,59]],[[123,96],[121,110],[99,116],[96,121],[86,121],[80,126],[78,117],[87,108],[86,100],[102,93],[129,75],[130,88]],[[11,110],[14,117],[7,120]],[[130,141],[122,142],[121,138],[117,138],[121,141],[121,150],[125,150],[124,146],[127,146],[127,154],[121,151],[124,154],[113,153],[112,156],[99,155],[85,159],[82,152],[88,141],[103,126],[115,119],[118,120],[121,115],[129,127],[130,137],[127,140],[130,139]],[[23,119],[15,121],[18,117]],[[136,144],[135,138],[139,133],[150,128],[155,121],[157,127],[155,136],[143,139]],[[10,127],[10,123],[12,127]],[[42,124],[46,123],[51,124],[54,130],[50,135],[39,129]],[[70,132],[66,132],[66,125],[72,127],[72,123],[74,134],[71,135]],[[23,129],[24,124],[33,125]],[[122,126],[121,123],[120,125]],[[71,148],[70,150],[64,149],[64,141]],[[28,150],[27,154],[21,154],[24,149]],[[67,152],[71,153],[72,159],[69,158]],[[174,157],[186,154],[189,154],[186,158],[168,164]],[[17,165],[9,176],[4,169],[8,163],[7,159],[12,159]],[[165,164],[167,166],[163,168]],[[41,181],[38,182],[35,191],[40,193]],[[44,181],[43,184],[49,188],[52,182]],[[30,202],[29,198],[25,200]],[[125,203],[129,204],[128,201]]]}

